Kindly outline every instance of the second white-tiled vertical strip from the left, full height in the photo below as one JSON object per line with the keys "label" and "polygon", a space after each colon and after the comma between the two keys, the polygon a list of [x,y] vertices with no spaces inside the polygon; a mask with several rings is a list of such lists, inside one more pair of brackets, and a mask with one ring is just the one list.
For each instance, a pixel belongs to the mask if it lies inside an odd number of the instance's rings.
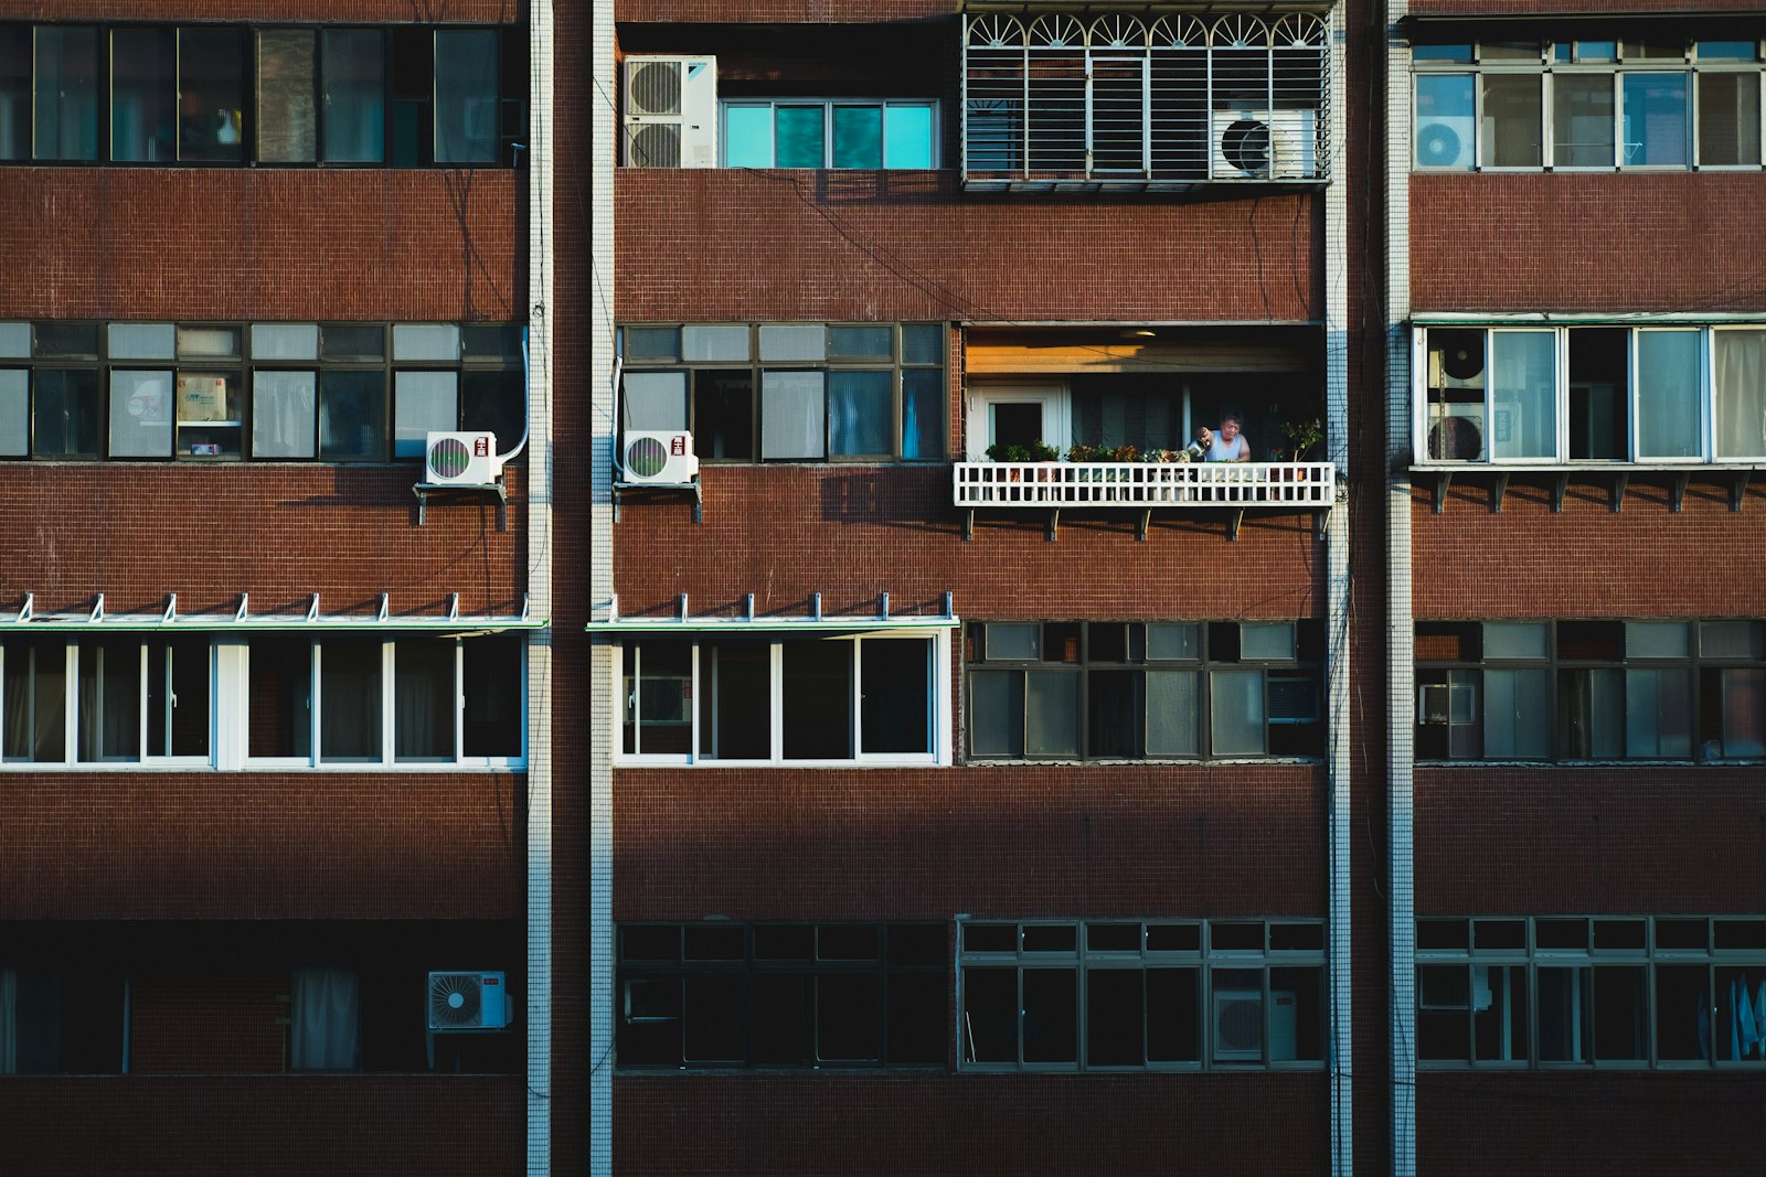
{"label": "second white-tiled vertical strip from the left, full height", "polygon": [[[613,166],[618,127],[613,118],[613,2],[590,5],[588,102],[588,600],[595,616],[613,602]],[[588,695],[588,1172],[613,1173],[613,706],[618,699],[618,649],[606,639],[590,646]]]}

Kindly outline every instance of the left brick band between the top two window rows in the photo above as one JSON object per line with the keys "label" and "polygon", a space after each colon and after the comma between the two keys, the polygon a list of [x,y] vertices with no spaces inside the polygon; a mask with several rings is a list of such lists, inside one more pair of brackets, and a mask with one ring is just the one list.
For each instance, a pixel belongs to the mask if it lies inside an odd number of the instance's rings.
{"label": "left brick band between the top two window rows", "polygon": [[0,316],[523,318],[525,175],[0,168]]}

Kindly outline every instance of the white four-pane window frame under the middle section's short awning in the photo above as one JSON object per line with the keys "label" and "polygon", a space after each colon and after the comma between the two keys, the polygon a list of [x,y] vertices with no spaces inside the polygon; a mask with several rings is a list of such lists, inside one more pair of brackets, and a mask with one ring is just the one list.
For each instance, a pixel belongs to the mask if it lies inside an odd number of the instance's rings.
{"label": "white four-pane window frame under the middle section's short awning", "polygon": [[[735,630],[736,625],[729,625]],[[789,630],[765,630],[756,632],[751,637],[768,639],[768,755],[763,759],[722,759],[699,755],[701,746],[701,725],[699,725],[699,699],[701,692],[710,688],[710,667],[701,660],[705,653],[705,644],[717,641],[719,633],[698,630],[692,633],[669,635],[666,632],[648,630],[643,633],[632,633],[632,641],[639,646],[645,641],[669,641],[675,637],[692,641],[691,649],[691,686],[692,702],[689,708],[689,743],[685,753],[660,753],[660,752],[643,752],[643,727],[639,725],[639,752],[625,752],[625,706],[616,706],[611,709],[609,716],[609,746],[615,748],[615,764],[639,768],[639,766],[698,766],[698,768],[913,768],[913,766],[938,766],[948,768],[952,764],[952,669],[950,669],[950,633],[947,626],[932,628],[909,628],[909,626],[890,626],[888,630],[864,630],[862,626],[857,633],[849,635],[828,635],[828,633],[804,633],[793,635]],[[731,632],[729,637],[738,633]],[[853,731],[853,752],[849,757],[837,759],[786,759],[784,757],[784,644],[791,641],[849,641],[855,644],[853,660],[853,678],[849,683],[849,718]],[[865,642],[887,642],[887,641],[931,641],[931,667],[929,667],[929,715],[927,715],[927,746],[929,752],[864,752],[864,644]],[[620,651],[620,681],[623,692],[623,681],[627,678],[627,665],[623,662],[623,651]],[[641,655],[639,655],[641,658]],[[641,662],[639,662],[641,665]]]}

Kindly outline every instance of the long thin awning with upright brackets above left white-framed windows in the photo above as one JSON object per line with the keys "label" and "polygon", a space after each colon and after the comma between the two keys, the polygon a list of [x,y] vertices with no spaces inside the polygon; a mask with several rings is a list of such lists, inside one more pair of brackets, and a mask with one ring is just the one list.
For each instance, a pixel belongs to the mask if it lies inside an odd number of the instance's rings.
{"label": "long thin awning with upright brackets above left white-framed windows", "polygon": [[440,633],[496,633],[502,630],[544,630],[549,621],[535,618],[528,611],[528,598],[521,598],[521,612],[514,614],[463,614],[459,611],[459,593],[449,595],[445,612],[397,614],[389,611],[389,595],[380,595],[380,607],[367,612],[321,612],[320,595],[313,593],[307,611],[253,614],[249,596],[240,593],[238,607],[233,612],[178,612],[178,595],[166,598],[161,612],[106,612],[104,593],[99,593],[88,612],[39,614],[35,595],[26,593],[25,603],[12,616],[0,616],[0,637],[7,633],[44,633],[44,632],[79,632],[79,633],[129,633],[129,632],[261,632],[261,630],[300,630],[300,632],[411,632],[429,630]]}

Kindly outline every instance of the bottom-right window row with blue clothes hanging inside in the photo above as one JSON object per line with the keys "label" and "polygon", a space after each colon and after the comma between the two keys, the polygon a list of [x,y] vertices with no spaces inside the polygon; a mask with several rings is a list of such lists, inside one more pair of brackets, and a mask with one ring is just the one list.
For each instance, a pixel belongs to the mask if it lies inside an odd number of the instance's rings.
{"label": "bottom-right window row with blue clothes hanging inside", "polygon": [[1423,1064],[1761,1066],[1759,993],[1761,918],[1416,921]]}

